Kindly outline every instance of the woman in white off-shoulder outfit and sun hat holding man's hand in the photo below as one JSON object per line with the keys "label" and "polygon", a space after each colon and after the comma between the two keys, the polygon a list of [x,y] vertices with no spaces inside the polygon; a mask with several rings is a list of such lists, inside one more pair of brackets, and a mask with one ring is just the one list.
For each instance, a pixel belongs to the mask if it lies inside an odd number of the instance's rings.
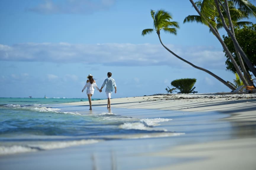
{"label": "woman in white off-shoulder outfit and sun hat holding man's hand", "polygon": [[93,76],[91,74],[89,74],[87,76],[87,81],[86,81],[86,84],[85,86],[83,87],[83,90],[82,92],[84,91],[84,89],[87,87],[87,90],[86,90],[86,94],[88,96],[88,100],[89,100],[89,104],[90,104],[90,109],[91,110],[91,96],[94,94],[94,87],[96,87],[97,90],[99,90],[95,80],[93,79]]}

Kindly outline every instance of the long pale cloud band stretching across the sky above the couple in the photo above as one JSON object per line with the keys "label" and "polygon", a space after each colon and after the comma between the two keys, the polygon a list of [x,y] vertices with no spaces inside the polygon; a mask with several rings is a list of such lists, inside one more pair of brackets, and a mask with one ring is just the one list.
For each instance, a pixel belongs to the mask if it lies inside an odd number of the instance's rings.
{"label": "long pale cloud band stretching across the sky above the couple", "polygon": [[[209,47],[178,47],[174,49],[181,58],[203,68],[225,68],[226,58],[220,50]],[[69,44],[23,43],[13,46],[0,45],[2,61],[39,61],[56,63],[86,63],[111,66],[163,66],[191,67],[179,60],[161,45],[155,44]]]}

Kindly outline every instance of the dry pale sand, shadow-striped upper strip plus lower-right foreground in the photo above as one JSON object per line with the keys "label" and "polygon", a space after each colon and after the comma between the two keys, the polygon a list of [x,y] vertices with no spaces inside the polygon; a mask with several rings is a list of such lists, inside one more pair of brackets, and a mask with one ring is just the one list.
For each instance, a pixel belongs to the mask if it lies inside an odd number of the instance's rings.
{"label": "dry pale sand, shadow-striped upper strip plus lower-right foreground", "polygon": [[[107,100],[93,101],[106,104]],[[78,103],[76,103],[78,104]],[[79,103],[81,104],[81,103]],[[226,120],[242,122],[243,125],[256,121],[256,94],[161,94],[144,97],[127,97],[111,100],[112,108],[165,109],[186,112],[228,113]],[[75,103],[74,103],[75,105]],[[161,166],[152,169],[256,169],[256,129],[254,136],[207,143],[181,145],[150,155],[199,158],[195,161]],[[151,169],[150,167],[146,169]]]}

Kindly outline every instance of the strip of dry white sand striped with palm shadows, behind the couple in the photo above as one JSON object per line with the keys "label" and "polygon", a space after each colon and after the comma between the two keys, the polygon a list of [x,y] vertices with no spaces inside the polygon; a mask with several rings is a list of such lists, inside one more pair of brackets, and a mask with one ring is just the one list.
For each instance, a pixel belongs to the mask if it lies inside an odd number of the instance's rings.
{"label": "strip of dry white sand striped with palm shadows, behind the couple", "polygon": [[[104,107],[107,99],[92,101],[92,107]],[[64,105],[89,106],[88,102],[64,103]],[[124,97],[111,99],[111,107],[134,109],[180,110],[185,112],[218,111],[232,114],[232,120],[239,120],[236,116],[244,115],[251,121],[256,121],[256,94],[154,94],[139,97]],[[241,107],[243,109],[241,109]],[[236,118],[235,118],[236,117]],[[247,120],[244,119],[243,120]]]}

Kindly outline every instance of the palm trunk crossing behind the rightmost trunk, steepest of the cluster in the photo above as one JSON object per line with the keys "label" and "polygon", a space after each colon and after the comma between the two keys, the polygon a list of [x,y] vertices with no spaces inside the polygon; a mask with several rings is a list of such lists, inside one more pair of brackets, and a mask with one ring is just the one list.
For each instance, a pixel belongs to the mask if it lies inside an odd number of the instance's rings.
{"label": "palm trunk crossing behind the rightmost trunk, steepest of the cluster", "polygon": [[[225,12],[226,12],[226,14],[227,14],[227,16],[228,16],[229,27],[230,27],[231,32],[232,32],[232,33],[234,34],[234,36],[235,36],[234,26],[233,26],[233,22],[232,22],[232,20],[231,20],[231,16],[230,16],[230,12],[229,12],[229,8],[228,8],[228,1],[227,1],[227,0],[225,0],[225,6],[226,6]],[[223,7],[224,7],[224,6],[223,6]],[[224,9],[225,9],[225,7],[224,7]],[[251,81],[251,79],[250,79],[250,77],[249,77],[249,75],[248,75],[248,73],[247,73],[247,70],[246,70],[246,68],[245,68],[245,66],[244,66],[244,62],[243,62],[243,60],[242,60],[242,58],[241,58],[241,55],[240,55],[238,49],[236,48],[236,46],[234,46],[234,47],[235,47],[235,50],[236,50],[236,55],[237,55],[237,58],[238,58],[238,60],[239,60],[241,69],[242,69],[242,71],[243,71],[243,73],[244,73],[244,78],[246,79],[246,81],[247,81],[247,83],[249,84],[249,86],[253,86],[253,82]]]}

